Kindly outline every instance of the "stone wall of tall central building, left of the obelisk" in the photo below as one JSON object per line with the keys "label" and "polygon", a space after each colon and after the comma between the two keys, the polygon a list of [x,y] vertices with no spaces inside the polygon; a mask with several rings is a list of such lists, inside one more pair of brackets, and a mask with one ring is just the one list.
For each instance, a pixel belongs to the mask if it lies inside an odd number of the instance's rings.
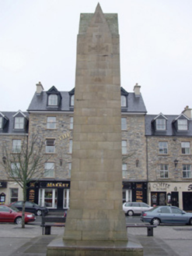
{"label": "stone wall of tall central building, left of the obelisk", "polygon": [[[56,129],[47,129],[47,116],[56,117]],[[70,179],[68,164],[72,162],[72,154],[69,152],[69,140],[72,140],[72,129],[70,129],[70,117],[61,113],[30,113],[30,138],[33,134],[38,134],[40,140],[44,143],[44,158],[47,162],[54,162],[54,178]],[[55,140],[54,153],[45,152],[46,139]]]}

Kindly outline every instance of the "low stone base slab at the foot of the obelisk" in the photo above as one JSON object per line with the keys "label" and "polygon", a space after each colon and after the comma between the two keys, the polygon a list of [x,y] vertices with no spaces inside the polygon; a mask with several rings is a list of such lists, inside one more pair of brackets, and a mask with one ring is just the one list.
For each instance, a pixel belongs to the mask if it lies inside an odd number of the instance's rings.
{"label": "low stone base slab at the foot of the obelisk", "polygon": [[47,256],[143,256],[143,247],[134,238],[124,241],[63,240],[58,236],[47,246]]}

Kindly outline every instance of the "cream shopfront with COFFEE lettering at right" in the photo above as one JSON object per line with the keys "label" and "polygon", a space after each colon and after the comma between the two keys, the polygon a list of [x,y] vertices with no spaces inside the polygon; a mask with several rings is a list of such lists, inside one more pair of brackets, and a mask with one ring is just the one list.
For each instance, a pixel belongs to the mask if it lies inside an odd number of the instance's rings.
{"label": "cream shopfront with COFFEE lettering at right", "polygon": [[149,204],[173,205],[192,211],[192,183],[148,183]]}

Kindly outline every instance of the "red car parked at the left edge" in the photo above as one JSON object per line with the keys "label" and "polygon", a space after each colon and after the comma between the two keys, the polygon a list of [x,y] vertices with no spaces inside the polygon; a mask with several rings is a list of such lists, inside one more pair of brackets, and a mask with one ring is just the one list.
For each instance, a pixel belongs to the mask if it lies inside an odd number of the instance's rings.
{"label": "red car parked at the left edge", "polygon": [[[13,206],[7,206],[5,204],[0,205],[0,222],[12,222],[21,224],[22,212]],[[25,212],[25,223],[34,222],[35,215],[30,212]]]}

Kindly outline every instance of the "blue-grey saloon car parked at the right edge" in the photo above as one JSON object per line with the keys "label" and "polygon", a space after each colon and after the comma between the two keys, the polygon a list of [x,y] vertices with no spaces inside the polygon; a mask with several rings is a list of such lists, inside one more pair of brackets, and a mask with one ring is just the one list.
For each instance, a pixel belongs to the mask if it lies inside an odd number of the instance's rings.
{"label": "blue-grey saloon car parked at the right edge", "polygon": [[192,225],[192,213],[184,212],[176,206],[156,206],[148,212],[141,212],[141,221],[155,226],[160,223]]}

